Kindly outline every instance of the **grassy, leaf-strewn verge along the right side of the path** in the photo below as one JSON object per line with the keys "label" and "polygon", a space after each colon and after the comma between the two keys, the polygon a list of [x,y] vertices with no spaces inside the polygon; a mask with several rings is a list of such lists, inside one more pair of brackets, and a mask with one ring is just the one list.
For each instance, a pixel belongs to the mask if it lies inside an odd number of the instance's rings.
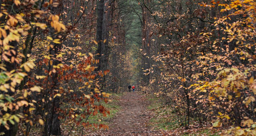
{"label": "grassy, leaf-strewn verge along the right side of the path", "polygon": [[[167,130],[175,135],[219,135],[218,130],[212,130],[207,127],[191,128],[185,130],[184,119],[178,118],[176,112],[172,107],[164,104],[162,100],[154,96],[148,96],[150,105],[148,110],[153,111],[153,118],[150,120],[150,126],[156,130]],[[192,121],[193,122],[193,119]],[[195,122],[195,121],[194,121]],[[192,126],[194,126],[193,124]]]}

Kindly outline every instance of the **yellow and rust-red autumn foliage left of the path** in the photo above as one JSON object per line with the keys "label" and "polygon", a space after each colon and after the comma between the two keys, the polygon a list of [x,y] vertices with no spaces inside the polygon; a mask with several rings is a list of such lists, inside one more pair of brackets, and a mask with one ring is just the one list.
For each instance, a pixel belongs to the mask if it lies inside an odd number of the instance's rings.
{"label": "yellow and rust-red autumn foliage left of the path", "polygon": [[0,134],[30,135],[41,125],[42,135],[60,135],[63,121],[107,128],[87,121],[110,114],[100,104],[110,94],[96,83],[108,71],[95,71],[94,37],[81,40],[79,32],[80,21],[94,12],[87,5],[95,3],[76,4],[81,7],[72,11],[78,10],[74,21],[65,11],[68,5],[58,1],[0,2]]}

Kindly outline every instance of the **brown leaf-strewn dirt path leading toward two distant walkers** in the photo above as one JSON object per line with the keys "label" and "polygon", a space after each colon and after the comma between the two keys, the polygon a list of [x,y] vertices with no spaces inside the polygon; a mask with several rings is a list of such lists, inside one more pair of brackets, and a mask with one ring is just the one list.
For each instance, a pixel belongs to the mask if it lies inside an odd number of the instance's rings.
{"label": "brown leaf-strewn dirt path leading toward two distant walkers", "polygon": [[147,110],[149,102],[138,92],[125,92],[119,100],[122,109],[111,119],[109,130],[89,135],[168,135],[165,131],[152,130],[148,122],[152,118]]}

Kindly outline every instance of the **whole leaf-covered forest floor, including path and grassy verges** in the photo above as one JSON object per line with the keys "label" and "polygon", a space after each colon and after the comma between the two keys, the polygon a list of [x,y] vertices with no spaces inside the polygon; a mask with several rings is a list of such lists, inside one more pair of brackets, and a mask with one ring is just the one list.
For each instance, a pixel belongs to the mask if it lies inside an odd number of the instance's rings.
{"label": "whole leaf-covered forest floor, including path and grassy verges", "polygon": [[[67,121],[61,125],[62,135],[219,135],[220,132],[192,124],[186,130],[171,108],[141,92],[113,94],[110,99],[112,102],[102,103],[110,110],[110,115],[103,117],[98,114],[88,120],[90,123],[108,125],[109,129],[84,129],[82,126],[74,127],[73,122]],[[42,128],[33,128],[30,135],[41,135],[41,131]]]}

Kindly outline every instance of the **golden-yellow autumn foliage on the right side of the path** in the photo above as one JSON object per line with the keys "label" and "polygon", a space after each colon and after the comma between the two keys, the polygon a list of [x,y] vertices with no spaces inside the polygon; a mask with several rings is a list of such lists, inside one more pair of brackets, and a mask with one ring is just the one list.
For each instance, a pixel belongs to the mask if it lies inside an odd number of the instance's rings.
{"label": "golden-yellow autumn foliage on the right side of the path", "polygon": [[185,128],[232,126],[226,133],[255,135],[255,4],[169,1],[155,8],[159,22],[148,26],[151,44],[160,46],[148,47],[145,74]]}

